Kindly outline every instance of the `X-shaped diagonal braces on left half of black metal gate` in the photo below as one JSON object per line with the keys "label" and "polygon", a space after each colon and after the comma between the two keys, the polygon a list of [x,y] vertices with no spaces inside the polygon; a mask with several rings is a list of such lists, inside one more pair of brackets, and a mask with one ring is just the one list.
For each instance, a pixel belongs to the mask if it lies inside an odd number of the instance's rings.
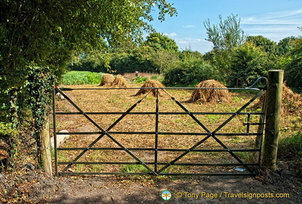
{"label": "X-shaped diagonal braces on left half of black metal gate", "polygon": [[70,164],[68,164],[65,168],[64,168],[64,170],[62,171],[62,172],[64,172],[64,171],[67,171],[67,169],[68,168],[70,168],[70,166],[73,164],[73,162],[76,162],[76,161],[78,161],[78,159],[80,159],[80,157],[82,157],[82,155],[84,155],[85,154],[85,152],[87,152],[87,150],[89,150],[89,148],[92,148],[92,146],[94,146],[94,144],[96,143],[96,142],[98,142],[104,135],[106,135],[106,136],[108,136],[112,141],[114,141],[116,144],[117,144],[117,146],[120,146],[120,148],[122,148],[124,151],[126,151],[129,155],[131,155],[131,157],[133,157],[134,159],[136,159],[136,161],[138,161],[140,164],[142,164],[143,166],[145,166],[145,168],[147,168],[148,169],[148,171],[150,171],[152,174],[154,174],[154,175],[158,175],[155,171],[153,171],[149,166],[147,166],[147,164],[145,164],[145,162],[143,162],[143,161],[141,161],[141,159],[139,159],[138,157],[136,157],[132,152],[130,152],[127,148],[125,148],[121,143],[119,143],[117,140],[115,140],[114,138],[113,138],[113,136],[111,136],[108,132],[115,126],[115,125],[117,125],[117,123],[119,123],[120,122],[120,120],[122,120],[122,118],[124,118],[124,116],[127,116],[127,114],[130,112],[130,111],[132,111],[135,107],[136,107],[136,105],[137,104],[139,104],[140,102],[142,102],[142,100],[144,100],[145,99],[145,97],[147,97],[148,95],[149,95],[149,93],[151,92],[149,92],[148,94],[146,94],[141,100],[138,100],[138,102],[136,102],[134,105],[132,105],[132,107],[130,107],[126,112],[124,112],[123,114],[122,114],[122,116],[120,116],[120,118],[118,118],[116,121],[115,121],[115,123],[113,123],[112,125],[110,125],[110,127],[108,127],[108,129],[107,130],[103,130],[103,128],[101,128],[96,122],[94,122],[94,120],[92,120],[92,118],[90,118],[88,115],[87,115],[87,113],[85,113],[84,111],[82,111],[82,109],[80,109],[80,107],[78,107],[78,105],[76,105],[65,93],[63,93],[59,88],[55,88],[55,90],[57,91],[57,92],[59,92],[60,94],[62,94],[65,98],[66,98],[66,100],[68,100],[72,105],[73,105],[73,107],[75,107],[75,109],[78,109],[78,111],[80,112],[80,113],[82,113],[82,115],[83,116],[85,116],[85,118],[87,118],[87,120],[89,120],[95,127],[97,127],[99,130],[101,130],[101,132],[102,132],[102,134],[97,138],[97,139],[95,139],[85,150],[83,150],[77,157],[75,157],[75,159],[73,159],[73,161],[70,163]]}

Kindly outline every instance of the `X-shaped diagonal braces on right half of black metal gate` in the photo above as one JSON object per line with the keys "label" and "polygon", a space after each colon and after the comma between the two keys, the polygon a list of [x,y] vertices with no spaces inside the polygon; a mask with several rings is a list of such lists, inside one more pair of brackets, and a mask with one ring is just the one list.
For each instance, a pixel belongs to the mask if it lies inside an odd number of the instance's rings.
{"label": "X-shaped diagonal braces on right half of black metal gate", "polygon": [[228,150],[228,152],[230,153],[230,155],[232,155],[232,157],[234,157],[240,164],[243,164],[243,166],[245,167],[245,169],[247,169],[247,171],[249,171],[250,173],[252,173],[253,171],[239,158],[237,157],[236,154],[234,154],[229,148],[227,148],[226,145],[224,145],[224,143],[222,143],[222,141],[220,141],[220,139],[217,139],[217,137],[215,136],[215,133],[217,133],[220,129],[222,129],[222,127],[224,127],[225,125],[227,125],[227,123],[229,123],[229,121],[231,121],[233,118],[235,118],[235,116],[238,115],[238,113],[240,113],[241,111],[243,111],[243,109],[245,109],[247,106],[249,106],[254,100],[257,99],[257,97],[259,97],[259,95],[261,95],[261,93],[264,92],[264,89],[261,89],[257,95],[254,95],[254,97],[252,97],[252,99],[247,102],[246,104],[243,105],[243,107],[241,107],[240,109],[238,109],[238,111],[236,111],[235,113],[233,113],[233,115],[231,117],[229,117],[227,120],[224,121],[224,123],[222,123],[222,125],[220,125],[219,127],[217,127],[216,130],[214,130],[213,132],[210,132],[208,130],[208,128],[206,126],[204,126],[199,119],[197,119],[192,113],[189,112],[189,110],[187,110],[180,102],[178,102],[178,100],[175,100],[175,97],[172,97],[171,95],[169,95],[165,90],[164,92],[171,97],[171,99],[178,104],[186,113],[189,114],[189,116],[191,116],[196,123],[198,123],[199,125],[201,125],[201,127],[203,127],[204,130],[206,130],[206,132],[208,132],[208,136],[204,137],[201,141],[199,141],[198,143],[196,143],[194,146],[192,146],[191,148],[189,148],[188,150],[186,150],[185,152],[182,153],[182,155],[178,156],[177,158],[175,158],[172,162],[170,162],[169,164],[167,164],[166,166],[164,166],[163,168],[161,168],[159,171],[157,171],[157,173],[161,173],[161,171],[164,171],[166,168],[168,168],[168,166],[171,166],[173,164],[175,164],[175,162],[177,162],[179,159],[181,159],[182,157],[184,157],[185,155],[187,155],[189,152],[191,152],[192,150],[194,150],[197,146],[201,145],[201,143],[203,143],[204,141],[206,141],[207,139],[209,139],[211,136],[213,137],[213,139],[215,139],[215,141],[217,141],[217,143],[220,144],[220,146],[222,146],[222,148]]}

